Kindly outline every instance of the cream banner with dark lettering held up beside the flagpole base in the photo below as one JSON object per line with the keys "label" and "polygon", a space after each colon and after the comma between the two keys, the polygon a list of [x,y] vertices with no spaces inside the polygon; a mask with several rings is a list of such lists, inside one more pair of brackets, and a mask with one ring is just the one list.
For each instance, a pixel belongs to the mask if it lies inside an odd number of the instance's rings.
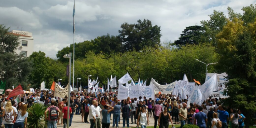
{"label": "cream banner with dark lettering held up beside the flagpole base", "polygon": [[[73,91],[73,89],[70,87],[70,91]],[[65,98],[65,96],[69,96],[68,94],[68,85],[65,88],[62,88],[59,86],[59,84],[55,83],[55,89],[54,89],[54,96]]]}

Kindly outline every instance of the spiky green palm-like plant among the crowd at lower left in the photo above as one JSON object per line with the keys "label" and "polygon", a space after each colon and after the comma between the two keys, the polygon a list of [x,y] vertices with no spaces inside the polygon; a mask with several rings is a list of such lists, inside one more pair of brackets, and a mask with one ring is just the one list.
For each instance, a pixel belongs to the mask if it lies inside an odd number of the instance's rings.
{"label": "spiky green palm-like plant among the crowd at lower left", "polygon": [[44,112],[46,109],[47,106],[40,103],[35,103],[28,108],[27,128],[47,127],[47,120],[44,119]]}

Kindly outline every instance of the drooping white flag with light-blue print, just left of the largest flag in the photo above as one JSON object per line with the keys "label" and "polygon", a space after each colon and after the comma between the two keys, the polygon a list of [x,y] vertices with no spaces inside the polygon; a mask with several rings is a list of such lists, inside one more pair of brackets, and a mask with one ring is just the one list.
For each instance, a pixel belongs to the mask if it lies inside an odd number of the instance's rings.
{"label": "drooping white flag with light-blue print, just left of the largest flag", "polygon": [[195,86],[194,90],[191,92],[191,95],[188,98],[187,104],[193,103],[201,106],[203,103],[202,97],[202,91],[198,86]]}

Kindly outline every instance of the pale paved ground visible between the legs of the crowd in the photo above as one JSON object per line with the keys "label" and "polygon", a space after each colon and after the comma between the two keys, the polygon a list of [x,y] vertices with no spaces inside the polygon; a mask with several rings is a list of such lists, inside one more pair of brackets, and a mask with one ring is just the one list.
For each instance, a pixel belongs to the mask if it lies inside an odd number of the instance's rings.
{"label": "pale paved ground visible between the legs of the crowd", "polygon": [[[121,113],[122,115],[122,113]],[[111,119],[113,118],[113,114],[111,114]],[[89,121],[89,119],[88,119]],[[110,120],[111,121],[111,124],[110,124],[110,127],[112,128],[112,125],[113,125],[113,120]],[[172,120],[174,121],[174,120]],[[175,121],[174,121],[175,122]],[[131,119],[129,119],[129,123],[131,123]],[[154,118],[150,118],[150,125],[149,126],[154,126]],[[63,128],[63,125],[58,125],[57,126],[58,128]],[[72,126],[71,128],[89,128],[90,127],[90,123],[82,123],[82,118],[81,118],[81,115],[74,115],[73,116],[73,121],[72,121]],[[121,116],[121,120],[120,120],[120,124],[119,124],[119,128],[122,128],[123,127],[123,118]],[[127,127],[125,125],[125,127]],[[129,124],[129,127],[136,127],[136,124]]]}

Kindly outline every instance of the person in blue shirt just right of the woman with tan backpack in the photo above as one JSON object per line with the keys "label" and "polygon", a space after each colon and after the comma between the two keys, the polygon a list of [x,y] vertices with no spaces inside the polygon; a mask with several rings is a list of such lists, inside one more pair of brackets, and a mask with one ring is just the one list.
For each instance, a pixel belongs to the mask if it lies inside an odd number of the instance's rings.
{"label": "person in blue shirt just right of the woman with tan backpack", "polygon": [[222,122],[222,128],[227,128],[227,120],[229,120],[229,115],[226,111],[226,106],[219,105],[217,112],[219,113],[219,120]]}

